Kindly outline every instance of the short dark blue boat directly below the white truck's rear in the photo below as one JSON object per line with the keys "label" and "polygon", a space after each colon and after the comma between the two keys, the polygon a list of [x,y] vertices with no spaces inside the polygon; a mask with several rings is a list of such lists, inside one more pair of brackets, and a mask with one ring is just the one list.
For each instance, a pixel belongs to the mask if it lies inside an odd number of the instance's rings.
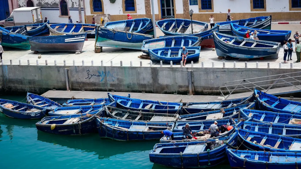
{"label": "short dark blue boat directly below the white truck's rear", "polygon": [[47,26],[48,23],[49,23],[49,20],[46,23],[35,23],[35,24],[31,24],[31,25],[25,25],[28,36],[49,35],[49,29]]}

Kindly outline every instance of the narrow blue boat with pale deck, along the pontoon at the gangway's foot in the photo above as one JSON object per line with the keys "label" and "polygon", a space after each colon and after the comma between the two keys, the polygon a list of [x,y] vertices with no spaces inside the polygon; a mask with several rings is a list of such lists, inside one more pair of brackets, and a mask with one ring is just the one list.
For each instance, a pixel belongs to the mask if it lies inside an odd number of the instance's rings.
{"label": "narrow blue boat with pale deck, along the pontoon at the gangway's foot", "polygon": [[182,114],[192,114],[200,112],[208,112],[219,109],[227,109],[233,106],[252,103],[254,101],[253,95],[242,99],[223,100],[217,102],[192,102],[186,103],[182,108]]}

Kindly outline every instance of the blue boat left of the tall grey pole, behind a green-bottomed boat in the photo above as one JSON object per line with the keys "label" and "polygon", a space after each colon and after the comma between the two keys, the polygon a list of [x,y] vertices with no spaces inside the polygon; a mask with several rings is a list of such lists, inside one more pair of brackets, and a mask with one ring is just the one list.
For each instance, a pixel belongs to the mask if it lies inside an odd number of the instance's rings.
{"label": "blue boat left of the tall grey pole, behind a green-bottomed boat", "polygon": [[124,30],[128,32],[154,35],[154,26],[150,18],[137,18],[107,22],[104,24],[104,27],[114,30]]}

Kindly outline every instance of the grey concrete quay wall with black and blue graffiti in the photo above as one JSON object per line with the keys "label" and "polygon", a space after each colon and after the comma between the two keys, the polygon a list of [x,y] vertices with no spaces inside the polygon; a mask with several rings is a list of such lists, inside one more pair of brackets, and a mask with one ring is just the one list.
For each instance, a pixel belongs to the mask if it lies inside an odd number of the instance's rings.
{"label": "grey concrete quay wall with black and blue graffiti", "polygon": [[[30,91],[38,94],[52,89],[66,90],[69,84],[69,89],[73,91],[219,95],[219,87],[224,86],[226,81],[299,71],[299,69],[200,67],[0,66],[2,91]],[[66,79],[69,79],[69,82]],[[269,78],[262,80],[267,79]],[[285,86],[289,84],[280,84],[277,87]]]}

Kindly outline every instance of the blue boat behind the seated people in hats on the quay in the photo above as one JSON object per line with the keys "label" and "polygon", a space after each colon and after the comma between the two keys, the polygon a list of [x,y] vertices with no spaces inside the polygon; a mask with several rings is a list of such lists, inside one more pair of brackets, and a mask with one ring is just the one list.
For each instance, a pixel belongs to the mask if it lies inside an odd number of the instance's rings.
{"label": "blue boat behind the seated people in hats on the quay", "polygon": [[244,37],[244,34],[247,33],[248,30],[250,30],[251,32],[254,32],[256,30],[259,40],[279,42],[281,44],[283,44],[283,41],[287,41],[290,38],[290,34],[292,33],[292,31],[290,30],[256,29],[246,26],[240,26],[233,23],[231,23],[231,30],[234,36],[240,37]]}

